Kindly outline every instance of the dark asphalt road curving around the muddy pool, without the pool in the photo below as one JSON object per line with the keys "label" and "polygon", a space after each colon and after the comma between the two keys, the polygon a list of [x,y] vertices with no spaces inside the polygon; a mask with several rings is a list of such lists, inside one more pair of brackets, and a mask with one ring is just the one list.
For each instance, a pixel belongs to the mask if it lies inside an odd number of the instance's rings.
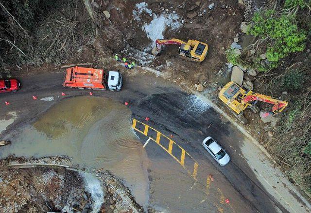
{"label": "dark asphalt road curving around the muddy pool, without the pool", "polygon": [[[0,95],[1,118],[5,119],[9,111],[16,111],[18,115],[2,134],[4,137],[16,127],[32,122],[58,101],[89,92],[63,88],[63,73],[26,76],[19,80],[20,91]],[[129,101],[134,119],[165,136],[172,135],[172,140],[198,163],[196,178],[193,178],[167,151],[150,141],[145,149],[151,160],[148,170],[151,206],[168,212],[273,213],[278,208],[287,212],[264,190],[240,154],[244,136],[212,108],[152,75],[124,76],[123,85],[121,92],[93,93],[121,103]],[[66,96],[61,96],[61,92]],[[38,99],[33,100],[33,95]],[[48,96],[53,96],[54,101],[39,100]],[[6,106],[4,101],[9,101],[10,105]],[[145,117],[150,120],[145,121]],[[137,135],[142,144],[148,139],[139,132]],[[207,136],[214,137],[230,155],[231,162],[225,167],[219,166],[203,149],[202,140]],[[176,156],[181,154],[174,146],[173,152]],[[185,166],[193,167],[187,159],[190,158],[186,158]],[[211,182],[208,175],[215,181]],[[226,198],[230,203],[225,202]]]}

